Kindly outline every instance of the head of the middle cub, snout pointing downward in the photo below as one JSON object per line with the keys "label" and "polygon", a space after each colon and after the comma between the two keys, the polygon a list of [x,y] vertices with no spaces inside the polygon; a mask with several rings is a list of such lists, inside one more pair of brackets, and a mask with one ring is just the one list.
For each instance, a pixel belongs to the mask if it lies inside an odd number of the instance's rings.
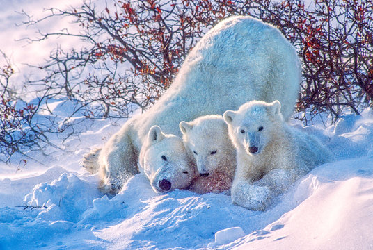
{"label": "head of the middle cub, snout pointing downward", "polygon": [[200,176],[219,172],[228,155],[235,151],[221,115],[198,117],[192,122],[180,122],[179,126],[185,147],[189,156],[196,160]]}

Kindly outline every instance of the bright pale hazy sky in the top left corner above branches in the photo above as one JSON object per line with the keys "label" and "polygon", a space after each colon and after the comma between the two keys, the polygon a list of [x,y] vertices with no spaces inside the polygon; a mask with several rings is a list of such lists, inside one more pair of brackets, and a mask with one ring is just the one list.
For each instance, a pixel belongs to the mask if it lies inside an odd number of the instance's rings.
{"label": "bright pale hazy sky in the top left corner above branches", "polygon": [[[22,21],[27,20],[19,12],[24,10],[33,17],[42,17],[46,15],[44,11],[46,8],[64,9],[79,3],[80,0],[0,0],[0,50],[6,53],[15,67],[17,74],[14,78],[23,78],[24,74],[29,74],[29,68],[24,64],[40,65],[58,44],[70,48],[76,42],[66,38],[50,38],[33,44],[29,44],[26,40],[19,41],[22,38],[35,38],[38,30],[60,31],[62,28],[72,26],[68,19],[53,19],[53,21],[42,22],[38,26],[17,26],[16,24],[22,24]],[[2,63],[3,60],[0,62]]]}

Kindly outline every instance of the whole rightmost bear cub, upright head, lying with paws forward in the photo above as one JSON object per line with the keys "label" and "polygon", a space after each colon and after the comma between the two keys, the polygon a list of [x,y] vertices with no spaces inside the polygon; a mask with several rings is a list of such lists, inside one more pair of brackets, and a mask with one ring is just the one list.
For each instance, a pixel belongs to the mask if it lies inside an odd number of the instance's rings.
{"label": "whole rightmost bear cub, upright head, lying with paws forward", "polygon": [[264,210],[297,178],[333,159],[318,140],[288,126],[280,107],[279,101],[250,101],[223,115],[237,149],[232,201],[239,206]]}

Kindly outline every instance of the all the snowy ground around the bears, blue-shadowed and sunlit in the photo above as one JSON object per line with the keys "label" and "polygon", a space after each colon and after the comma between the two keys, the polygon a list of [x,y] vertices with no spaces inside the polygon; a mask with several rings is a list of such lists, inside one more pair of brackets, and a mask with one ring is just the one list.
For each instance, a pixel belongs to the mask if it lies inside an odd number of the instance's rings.
{"label": "all the snowy ground around the bears, blue-shadowed and sunlit", "polygon": [[155,194],[141,174],[116,197],[100,193],[97,175],[79,160],[118,128],[87,122],[64,151],[35,154],[43,165],[18,172],[0,165],[0,249],[373,249],[370,110],[335,127],[302,128],[338,160],[294,183],[264,213],[225,194]]}

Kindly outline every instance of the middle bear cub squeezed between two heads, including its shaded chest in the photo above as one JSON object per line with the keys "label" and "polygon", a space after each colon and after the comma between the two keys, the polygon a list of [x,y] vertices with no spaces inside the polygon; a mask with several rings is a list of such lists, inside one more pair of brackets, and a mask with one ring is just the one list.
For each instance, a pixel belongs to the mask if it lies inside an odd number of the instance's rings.
{"label": "middle bear cub squeezed between two heads, including its shaded chest", "polygon": [[229,190],[235,176],[236,150],[221,115],[205,115],[180,122],[182,140],[194,158],[200,178],[191,184],[199,194]]}

